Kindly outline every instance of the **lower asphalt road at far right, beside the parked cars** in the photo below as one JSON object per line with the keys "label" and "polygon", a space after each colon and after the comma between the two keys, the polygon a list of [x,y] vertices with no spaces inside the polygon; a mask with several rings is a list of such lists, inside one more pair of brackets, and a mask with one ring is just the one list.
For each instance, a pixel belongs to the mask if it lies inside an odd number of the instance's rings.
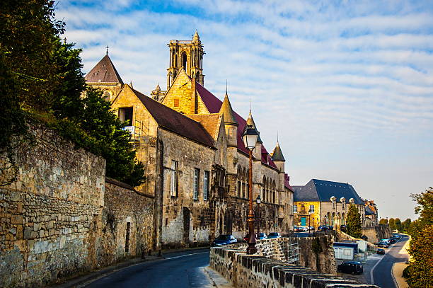
{"label": "lower asphalt road at far right, beside the parked cars", "polygon": [[382,288],[398,288],[392,277],[392,268],[394,263],[406,262],[409,256],[407,254],[399,254],[401,248],[409,240],[408,236],[401,235],[400,241],[395,243],[388,249],[387,253],[380,260],[379,264],[373,269],[373,279],[371,284],[376,284]]}

